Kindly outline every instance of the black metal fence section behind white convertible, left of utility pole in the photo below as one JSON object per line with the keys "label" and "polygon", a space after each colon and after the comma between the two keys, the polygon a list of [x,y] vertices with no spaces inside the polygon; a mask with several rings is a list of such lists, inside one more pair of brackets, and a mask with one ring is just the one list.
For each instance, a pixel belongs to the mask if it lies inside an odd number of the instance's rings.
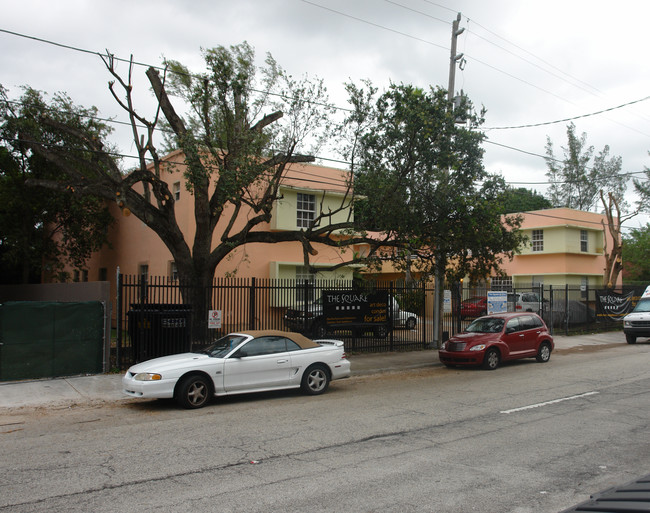
{"label": "black metal fence section behind white convertible, left of utility pole", "polygon": [[[215,279],[204,291],[203,306],[197,309],[189,299],[189,287],[177,280],[120,275],[117,365],[124,368],[156,356],[189,351],[241,330],[290,329],[322,338],[312,322],[319,315],[314,309],[318,308],[322,291],[364,290],[364,287],[386,290],[390,298],[395,298],[398,306],[395,311],[389,309],[388,322],[393,328],[383,333],[338,329],[327,333],[328,337],[344,339],[348,352],[404,351],[431,344],[433,289],[424,283],[360,286],[347,281],[223,278]],[[291,311],[301,312],[305,322],[297,324],[295,319],[290,322]],[[451,319],[448,324],[451,325]]]}

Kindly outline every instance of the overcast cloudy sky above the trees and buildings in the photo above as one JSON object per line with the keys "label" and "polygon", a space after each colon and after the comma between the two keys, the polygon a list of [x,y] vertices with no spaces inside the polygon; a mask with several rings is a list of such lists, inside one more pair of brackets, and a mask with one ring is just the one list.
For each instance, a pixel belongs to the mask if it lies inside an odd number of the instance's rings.
{"label": "overcast cloudy sky above the trees and buildings", "polygon": [[[461,13],[456,89],[487,109],[489,171],[545,192],[546,138],[561,156],[572,118],[596,152],[609,145],[622,157],[623,172],[641,177],[650,166],[650,2],[0,0],[0,8],[0,84],[15,97],[25,84],[65,91],[116,119],[124,115],[108,92],[110,77],[90,52],[150,65],[171,58],[198,72],[201,48],[246,40],[260,61],[270,52],[296,77],[323,78],[346,107],[350,81],[447,88],[451,25]],[[136,68],[134,83],[147,105],[144,70]],[[539,126],[521,128],[528,125]],[[133,153],[123,129],[114,139]]]}

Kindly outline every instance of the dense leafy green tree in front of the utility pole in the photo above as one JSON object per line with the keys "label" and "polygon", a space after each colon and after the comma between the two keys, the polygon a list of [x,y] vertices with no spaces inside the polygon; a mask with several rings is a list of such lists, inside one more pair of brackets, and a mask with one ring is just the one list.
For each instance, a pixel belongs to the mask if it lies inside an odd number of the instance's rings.
{"label": "dense leafy green tree in front of the utility pole", "polygon": [[[391,257],[432,275],[485,278],[523,242],[517,216],[502,218],[502,178],[482,163],[482,118],[458,125],[447,93],[410,85],[347,86],[348,158],[354,162],[356,212],[369,228],[400,240]],[[415,259],[414,259],[415,257]]]}

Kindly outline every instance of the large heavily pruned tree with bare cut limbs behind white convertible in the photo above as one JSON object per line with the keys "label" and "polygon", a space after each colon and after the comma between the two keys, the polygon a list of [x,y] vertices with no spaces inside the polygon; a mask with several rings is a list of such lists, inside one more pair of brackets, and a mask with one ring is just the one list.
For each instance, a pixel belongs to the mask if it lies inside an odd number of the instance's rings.
{"label": "large heavily pruned tree with bare cut limbs behind white convertible", "polygon": [[[295,80],[270,55],[263,66],[256,66],[247,43],[204,50],[203,57],[205,71],[199,74],[174,61],[166,62],[162,70],[147,69],[157,100],[150,119],[135,105],[133,62],[123,77],[113,56],[104,56],[114,78],[110,91],[129,116],[137,166],[124,172],[95,134],[61,123],[44,110],[38,130],[25,131],[22,139],[50,165],[64,170],[61,176],[66,178],[33,185],[73,187],[75,194],[114,201],[140,219],[171,252],[179,280],[192,294],[185,300],[199,312],[207,308],[202,288],[212,282],[217,265],[245,244],[299,242],[309,263],[315,244],[341,247],[368,242],[375,248],[372,256],[380,241],[354,230],[351,180],[336,211],[330,207],[317,213],[310,226],[259,229],[271,220],[290,166],[314,161],[311,154],[330,135],[332,107],[322,81]],[[162,142],[161,130],[166,134]],[[48,133],[66,134],[66,144],[50,144],[54,139],[48,139]],[[174,196],[163,176],[166,164],[161,154],[170,148],[184,155],[182,172],[193,196],[196,223],[191,240],[179,227]],[[345,221],[339,215],[332,222],[341,212],[348,213]],[[340,237],[345,231],[349,236]],[[351,261],[358,260],[358,255],[349,255]]]}

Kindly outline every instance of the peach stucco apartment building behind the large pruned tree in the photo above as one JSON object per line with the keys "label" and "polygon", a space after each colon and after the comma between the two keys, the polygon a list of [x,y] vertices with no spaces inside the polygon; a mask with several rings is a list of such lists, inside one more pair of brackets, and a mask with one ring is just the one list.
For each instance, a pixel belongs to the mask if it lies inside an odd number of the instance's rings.
{"label": "peach stucco apartment building behind the large pruned tree", "polygon": [[[191,247],[195,231],[194,205],[191,193],[185,188],[182,158],[180,152],[167,157],[166,161],[170,165],[167,166],[163,179],[174,195],[176,218]],[[271,222],[258,229],[295,230],[300,227],[301,218],[309,217],[310,213],[315,215],[321,208],[324,211],[339,210],[341,204],[347,202],[348,180],[349,172],[345,170],[292,164],[280,188],[281,200],[276,202]],[[68,269],[74,281],[100,280],[114,283],[118,269],[121,274],[166,276],[174,279],[175,264],[160,238],[142,221],[128,215],[128,211],[120,210],[114,203],[110,209],[116,220],[109,230],[110,244],[94,253],[85,269]],[[340,211],[334,214],[331,222],[344,221],[347,215],[348,210]],[[238,217],[238,222],[243,223],[245,217],[244,212]],[[215,240],[220,234],[217,227]],[[349,258],[349,254],[342,254],[337,248],[326,245],[316,244],[315,248],[317,254],[311,256],[311,264],[319,270],[316,278],[352,279],[354,268],[351,266],[328,270]],[[307,276],[307,270],[303,265],[302,246],[299,243],[260,243],[235,249],[218,265],[215,276],[295,279]]]}

